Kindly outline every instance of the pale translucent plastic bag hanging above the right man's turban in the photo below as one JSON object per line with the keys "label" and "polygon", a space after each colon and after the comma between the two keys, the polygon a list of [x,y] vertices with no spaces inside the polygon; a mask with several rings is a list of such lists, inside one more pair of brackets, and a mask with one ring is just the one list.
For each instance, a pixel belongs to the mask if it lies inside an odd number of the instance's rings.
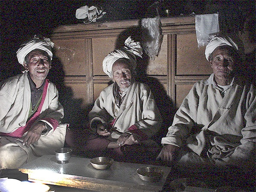
{"label": "pale translucent plastic bag hanging above the right man's turban", "polygon": [[218,13],[207,15],[195,15],[195,32],[198,41],[198,48],[209,43],[211,35],[218,35],[219,23]]}

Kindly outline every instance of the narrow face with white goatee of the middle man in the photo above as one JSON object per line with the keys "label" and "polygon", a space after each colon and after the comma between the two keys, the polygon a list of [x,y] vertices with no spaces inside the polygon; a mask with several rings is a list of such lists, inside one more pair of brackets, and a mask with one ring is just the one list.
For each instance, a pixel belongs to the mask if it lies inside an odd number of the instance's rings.
{"label": "narrow face with white goatee of the middle man", "polygon": [[113,81],[117,83],[121,92],[128,90],[131,85],[131,65],[128,60],[118,59],[112,66]]}

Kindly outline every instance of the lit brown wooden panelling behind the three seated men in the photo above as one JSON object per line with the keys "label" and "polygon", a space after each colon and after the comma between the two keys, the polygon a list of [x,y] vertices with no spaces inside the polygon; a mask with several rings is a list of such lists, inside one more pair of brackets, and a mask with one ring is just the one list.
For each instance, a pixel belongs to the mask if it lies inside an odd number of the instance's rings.
{"label": "lit brown wooden panelling behind the three seated men", "polygon": [[[110,78],[102,70],[102,61],[115,49],[120,35],[139,23],[126,20],[55,29],[51,39],[68,78],[65,85],[72,87],[74,98],[83,99],[83,105],[92,104],[108,86]],[[161,18],[161,24],[161,49],[158,57],[146,64],[146,72],[160,81],[179,107],[192,84],[206,78],[212,69],[204,56],[205,47],[198,49],[195,17]]]}

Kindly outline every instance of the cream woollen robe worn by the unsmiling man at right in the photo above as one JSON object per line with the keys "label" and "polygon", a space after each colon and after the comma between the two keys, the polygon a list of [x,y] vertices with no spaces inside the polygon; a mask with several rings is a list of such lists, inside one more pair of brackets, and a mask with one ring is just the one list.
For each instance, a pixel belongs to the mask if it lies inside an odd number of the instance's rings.
{"label": "cream woollen robe worn by the unsmiling man at right", "polygon": [[255,163],[256,90],[235,79],[225,95],[209,79],[194,84],[162,144],[186,145],[215,164]]}

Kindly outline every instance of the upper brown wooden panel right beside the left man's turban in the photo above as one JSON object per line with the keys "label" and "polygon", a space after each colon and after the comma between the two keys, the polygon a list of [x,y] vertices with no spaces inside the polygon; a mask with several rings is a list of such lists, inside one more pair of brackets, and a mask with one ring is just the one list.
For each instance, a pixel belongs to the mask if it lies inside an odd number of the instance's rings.
{"label": "upper brown wooden panel right beside the left man's turban", "polygon": [[55,55],[63,64],[66,76],[85,76],[84,39],[55,40]]}

